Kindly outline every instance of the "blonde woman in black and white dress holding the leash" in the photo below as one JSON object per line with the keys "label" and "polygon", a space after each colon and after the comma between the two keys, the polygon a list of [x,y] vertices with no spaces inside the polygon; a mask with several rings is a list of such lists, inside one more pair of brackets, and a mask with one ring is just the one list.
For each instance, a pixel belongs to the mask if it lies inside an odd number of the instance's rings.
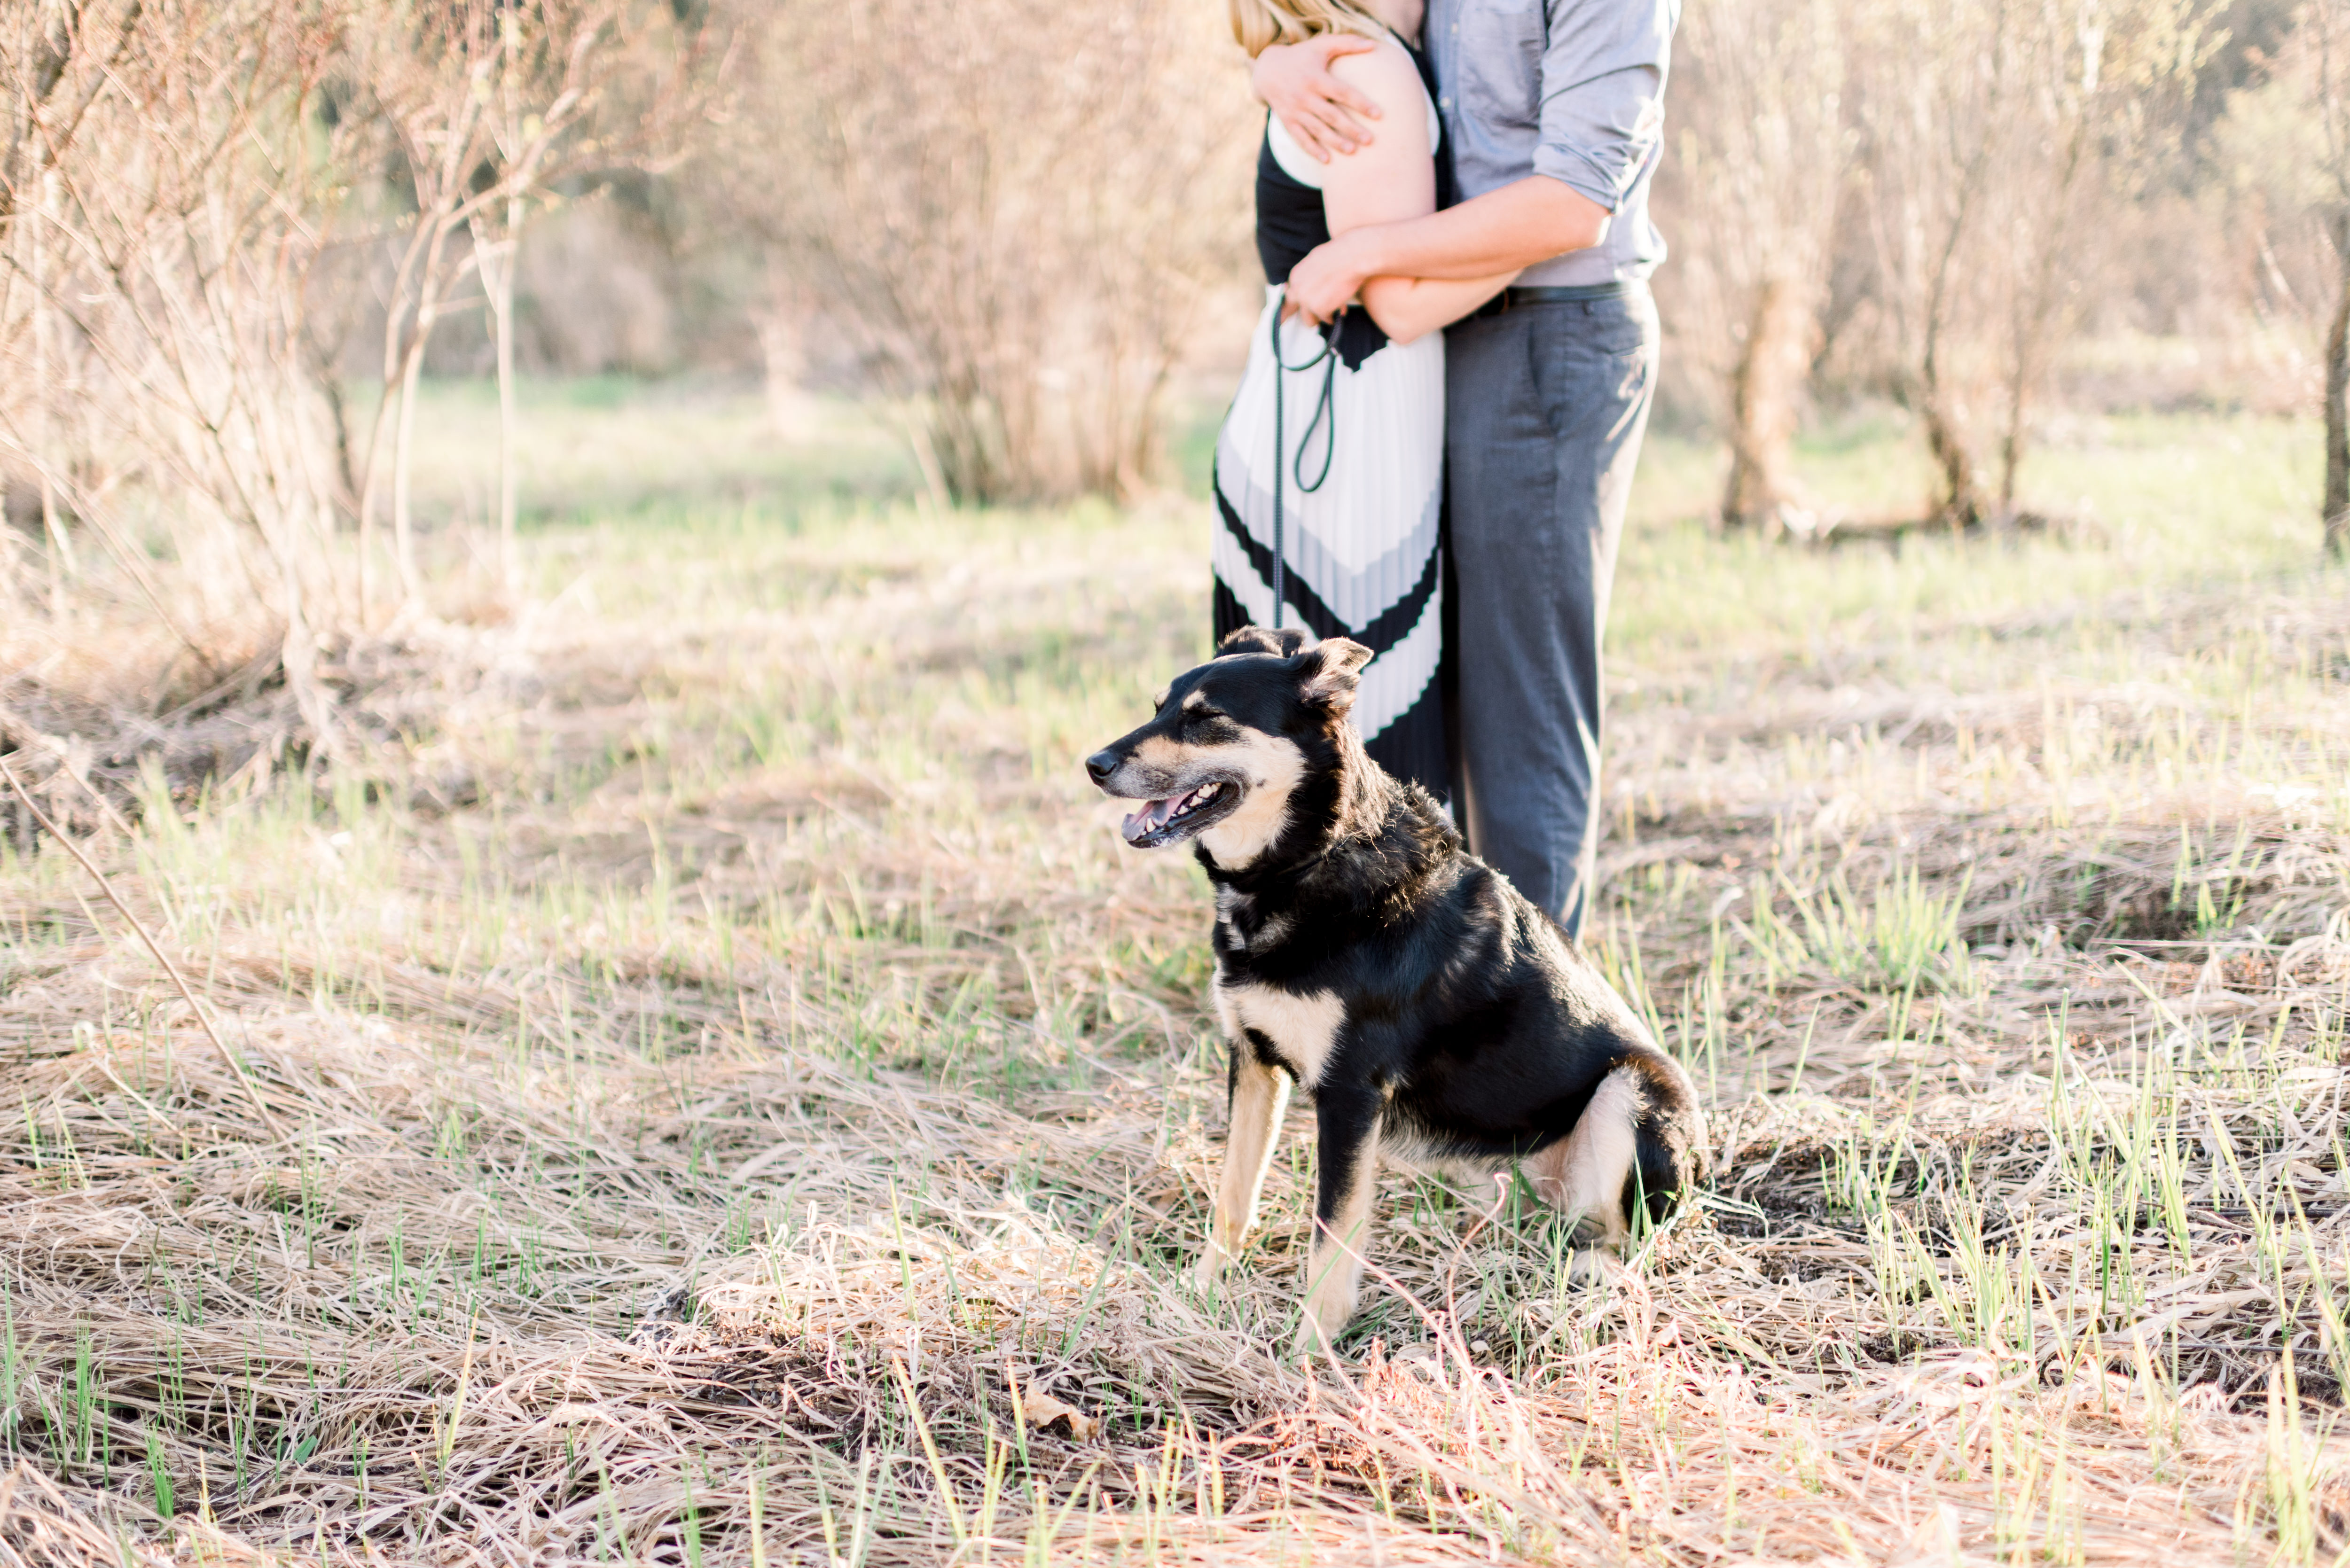
{"label": "blonde woman in black and white dress holding the leash", "polygon": [[[1264,118],[1257,256],[1264,313],[1215,444],[1215,637],[1304,625],[1377,654],[1354,717],[1398,778],[1450,792],[1443,654],[1443,324],[1516,273],[1476,282],[1375,277],[1328,331],[1283,320],[1281,284],[1307,252],[1365,223],[1436,212],[1434,89],[1417,52],[1424,0],[1231,0],[1255,59],[1269,45],[1363,33],[1382,47],[1330,68],[1379,106],[1379,136],[1328,165]],[[1278,604],[1276,604],[1278,583]]]}

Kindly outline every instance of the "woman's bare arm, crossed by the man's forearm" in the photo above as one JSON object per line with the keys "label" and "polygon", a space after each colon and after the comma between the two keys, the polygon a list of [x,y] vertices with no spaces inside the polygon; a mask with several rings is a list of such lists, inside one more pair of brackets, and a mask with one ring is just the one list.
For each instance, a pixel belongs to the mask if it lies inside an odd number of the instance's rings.
{"label": "woman's bare arm, crossed by the man's forearm", "polygon": [[[1330,235],[1436,212],[1436,148],[1429,146],[1419,68],[1403,49],[1379,47],[1337,59],[1330,71],[1377,103],[1386,125],[1386,134],[1377,141],[1330,160],[1323,174]],[[1363,308],[1389,339],[1410,343],[1469,315],[1516,275],[1511,270],[1471,280],[1370,277],[1363,282]]]}

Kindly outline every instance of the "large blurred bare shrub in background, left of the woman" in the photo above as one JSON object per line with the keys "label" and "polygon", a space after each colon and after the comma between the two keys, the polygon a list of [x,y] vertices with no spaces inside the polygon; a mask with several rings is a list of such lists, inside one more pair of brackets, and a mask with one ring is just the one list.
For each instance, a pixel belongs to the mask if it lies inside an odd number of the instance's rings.
{"label": "large blurred bare shrub in background, left of the woman", "polygon": [[[1196,9],[1196,7],[1194,7]],[[745,12],[731,200],[851,322],[954,501],[1128,494],[1246,259],[1246,80],[1152,0]]]}

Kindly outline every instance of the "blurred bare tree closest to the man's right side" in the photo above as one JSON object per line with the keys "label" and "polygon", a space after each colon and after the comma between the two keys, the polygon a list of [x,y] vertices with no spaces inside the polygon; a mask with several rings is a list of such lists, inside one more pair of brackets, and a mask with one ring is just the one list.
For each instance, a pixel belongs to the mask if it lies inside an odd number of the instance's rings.
{"label": "blurred bare tree closest to the man's right side", "polygon": [[1690,103],[1673,181],[1704,221],[1683,233],[1676,315],[1725,388],[1723,522],[1800,520],[1788,449],[1802,407],[1828,240],[1849,169],[1852,0],[1704,0],[1683,16],[1676,94]]}

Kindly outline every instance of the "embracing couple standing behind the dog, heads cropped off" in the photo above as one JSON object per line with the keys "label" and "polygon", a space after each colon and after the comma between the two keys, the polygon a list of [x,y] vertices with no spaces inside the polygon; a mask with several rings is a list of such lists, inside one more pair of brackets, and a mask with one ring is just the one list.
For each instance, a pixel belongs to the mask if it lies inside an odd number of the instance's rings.
{"label": "embracing couple standing behind the dog, heads cropped off", "polygon": [[1657,376],[1680,0],[1231,0],[1267,306],[1217,437],[1215,635],[1375,651],[1370,755],[1570,936]]}

